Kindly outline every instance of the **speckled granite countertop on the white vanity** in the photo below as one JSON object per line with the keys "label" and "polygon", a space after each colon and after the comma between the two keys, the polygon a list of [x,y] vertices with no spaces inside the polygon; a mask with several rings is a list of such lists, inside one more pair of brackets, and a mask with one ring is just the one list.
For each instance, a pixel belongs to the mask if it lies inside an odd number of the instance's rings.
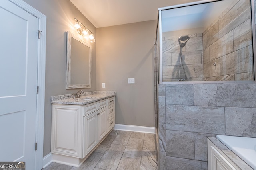
{"label": "speckled granite countertop on the white vanity", "polygon": [[86,105],[106,98],[116,96],[115,91],[94,91],[80,94],[80,98],[73,99],[74,94],[64,94],[51,97],[52,104]]}

